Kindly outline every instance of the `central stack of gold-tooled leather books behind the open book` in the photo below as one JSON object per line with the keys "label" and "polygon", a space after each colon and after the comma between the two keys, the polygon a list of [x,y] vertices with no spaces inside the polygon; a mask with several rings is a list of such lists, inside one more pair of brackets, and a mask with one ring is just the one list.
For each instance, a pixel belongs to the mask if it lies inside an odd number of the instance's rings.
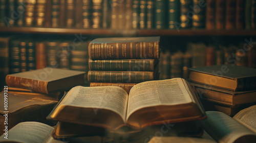
{"label": "central stack of gold-tooled leather books behind the open book", "polygon": [[97,38],[89,44],[90,86],[116,85],[129,93],[157,79],[160,37]]}

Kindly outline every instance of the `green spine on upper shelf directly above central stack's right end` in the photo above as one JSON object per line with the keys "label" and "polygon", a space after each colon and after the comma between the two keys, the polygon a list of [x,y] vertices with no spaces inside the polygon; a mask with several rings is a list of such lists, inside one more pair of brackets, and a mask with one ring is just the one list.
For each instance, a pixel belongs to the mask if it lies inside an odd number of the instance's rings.
{"label": "green spine on upper shelf directly above central stack's right end", "polygon": [[166,1],[157,0],[156,1],[156,19],[155,25],[156,29],[165,29],[166,28]]}

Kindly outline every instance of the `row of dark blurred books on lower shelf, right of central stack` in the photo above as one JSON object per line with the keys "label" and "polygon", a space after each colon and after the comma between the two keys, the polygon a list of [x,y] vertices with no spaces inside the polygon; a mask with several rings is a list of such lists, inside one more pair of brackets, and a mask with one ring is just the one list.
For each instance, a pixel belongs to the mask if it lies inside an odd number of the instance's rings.
{"label": "row of dark blurred books on lower shelf, right of central stack", "polygon": [[247,44],[206,45],[203,42],[188,42],[183,53],[161,52],[159,70],[160,79],[181,77],[188,79],[189,68],[232,64],[256,68],[256,46]]}

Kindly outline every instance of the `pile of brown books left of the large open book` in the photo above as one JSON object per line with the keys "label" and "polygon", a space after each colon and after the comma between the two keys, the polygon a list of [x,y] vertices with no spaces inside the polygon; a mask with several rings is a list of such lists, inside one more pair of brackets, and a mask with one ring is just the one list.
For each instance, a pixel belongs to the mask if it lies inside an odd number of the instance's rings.
{"label": "pile of brown books left of the large open book", "polygon": [[84,74],[83,71],[47,67],[7,75],[7,85],[0,93],[3,99],[0,102],[3,104],[0,107],[0,133],[8,132],[20,122],[54,125],[46,120],[46,116],[62,98],[64,91],[84,85]]}

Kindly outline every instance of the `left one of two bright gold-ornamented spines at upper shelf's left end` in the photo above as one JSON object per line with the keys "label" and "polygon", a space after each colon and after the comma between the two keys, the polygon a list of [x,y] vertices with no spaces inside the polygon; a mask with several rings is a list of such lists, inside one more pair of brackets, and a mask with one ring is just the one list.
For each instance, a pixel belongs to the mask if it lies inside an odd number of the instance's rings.
{"label": "left one of two bright gold-ornamented spines at upper shelf's left end", "polygon": [[32,27],[35,22],[35,0],[25,1],[27,8],[25,9],[25,26]]}

